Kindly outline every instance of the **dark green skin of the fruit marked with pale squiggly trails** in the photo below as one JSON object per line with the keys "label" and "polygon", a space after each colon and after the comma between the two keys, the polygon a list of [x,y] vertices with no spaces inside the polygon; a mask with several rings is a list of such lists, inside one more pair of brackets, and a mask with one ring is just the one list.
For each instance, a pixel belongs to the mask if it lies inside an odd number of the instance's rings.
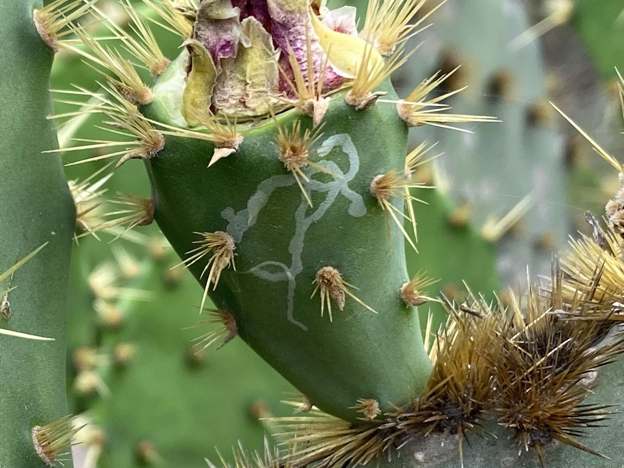
{"label": "dark green skin of the fruit marked with pale squiggly trails", "polygon": [[[394,97],[388,83],[381,89]],[[155,93],[145,114],[167,121],[167,112]],[[311,125],[294,111],[278,116],[285,129],[293,119]],[[232,311],[241,338],[314,404],[358,422],[349,409],[358,398],[378,399],[384,409],[404,404],[430,371],[416,311],[399,297],[408,280],[401,233],[369,194],[376,175],[403,170],[407,128],[394,106],[359,112],[343,92],[323,122],[316,150],[331,151],[318,160],[331,160],[326,167],[340,177],[312,177],[313,208],[278,160],[271,120],[246,131],[238,152],[210,168],[212,144],[177,137],[167,137],[147,167],[155,218],[178,255],[197,246],[193,232],[235,239],[236,271],[223,270],[210,296]],[[393,203],[402,209],[402,200]],[[190,270],[199,278],[204,266]],[[334,303],[333,323],[327,311],[321,317],[318,293],[310,296],[323,266],[337,268],[379,313],[347,297],[342,312]]]}

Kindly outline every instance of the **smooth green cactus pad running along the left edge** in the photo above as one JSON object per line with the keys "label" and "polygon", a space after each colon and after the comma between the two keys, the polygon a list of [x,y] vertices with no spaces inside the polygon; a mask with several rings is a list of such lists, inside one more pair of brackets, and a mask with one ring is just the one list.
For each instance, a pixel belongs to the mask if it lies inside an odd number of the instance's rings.
{"label": "smooth green cactus pad running along the left edge", "polygon": [[41,2],[0,4],[0,270],[49,241],[16,271],[11,318],[0,326],[56,340],[0,336],[0,464],[16,468],[46,466],[34,451],[31,429],[67,414],[65,326],[75,210],[61,158],[41,154],[57,143],[46,120],[53,53],[32,22],[36,7]]}

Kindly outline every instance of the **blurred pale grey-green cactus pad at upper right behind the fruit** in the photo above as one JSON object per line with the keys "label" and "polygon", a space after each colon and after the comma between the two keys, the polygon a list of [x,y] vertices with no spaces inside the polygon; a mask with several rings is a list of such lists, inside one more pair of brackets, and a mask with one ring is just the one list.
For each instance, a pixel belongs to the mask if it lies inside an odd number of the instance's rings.
{"label": "blurred pale grey-green cactus pad at upper right behind the fruit", "polygon": [[[539,43],[512,44],[529,28],[520,2],[449,0],[433,22],[412,39],[426,46],[394,74],[399,95],[441,71],[446,79],[436,83],[439,94],[467,87],[449,97],[449,105],[495,115],[503,124],[464,128],[474,134],[412,129],[412,145],[440,141],[437,149],[445,154],[434,162],[434,183],[453,201],[452,219],[471,223],[494,246],[502,285],[522,281],[527,264],[532,273],[547,274],[569,222],[561,202],[563,141],[546,97]],[[487,25],[482,34],[474,34],[475,24]]]}

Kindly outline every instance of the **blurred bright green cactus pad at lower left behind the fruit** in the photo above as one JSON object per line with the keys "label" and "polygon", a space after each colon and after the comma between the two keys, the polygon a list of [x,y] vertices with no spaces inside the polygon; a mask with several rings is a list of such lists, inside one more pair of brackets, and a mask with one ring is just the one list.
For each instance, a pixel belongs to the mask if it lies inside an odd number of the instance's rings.
{"label": "blurred bright green cactus pad at lower left behind the fruit", "polygon": [[[285,412],[278,399],[293,391],[275,371],[236,339],[218,351],[193,347],[192,339],[210,331],[197,326],[197,284],[185,273],[172,285],[165,278],[172,256],[143,261],[128,287],[149,290],[154,301],[120,300],[124,323],[105,331],[99,366],[110,396],[89,408],[89,420],[105,434],[97,466],[140,467],[140,445],[149,444],[167,466],[200,468],[213,447],[240,440],[261,449],[265,424],[258,418]],[[189,305],[188,307],[180,307]],[[120,362],[115,354],[130,346]]]}

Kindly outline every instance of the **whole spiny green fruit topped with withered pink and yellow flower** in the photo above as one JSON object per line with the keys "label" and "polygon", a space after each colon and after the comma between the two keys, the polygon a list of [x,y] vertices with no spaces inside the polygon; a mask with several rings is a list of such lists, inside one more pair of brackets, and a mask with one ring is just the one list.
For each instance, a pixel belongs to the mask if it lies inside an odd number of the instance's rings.
{"label": "whole spiny green fruit topped with withered pink and yellow flower", "polygon": [[[376,397],[388,409],[419,392],[430,370],[415,304],[401,298],[408,278],[399,238],[409,238],[402,210],[412,201],[406,190],[419,187],[419,155],[404,156],[407,127],[492,120],[425,112],[412,102],[420,87],[397,104],[388,76],[405,61],[401,44],[416,27],[405,26],[422,3],[378,6],[388,21],[367,19],[374,46],[354,35],[352,16],[333,17],[329,27],[304,0],[188,4],[192,37],[171,7],[161,14],[187,49],[152,89],[83,28],[76,33],[90,52],[68,46],[115,76],[110,99],[80,94],[137,137],[68,150],[120,145],[88,160],[144,159],[154,188],[144,211],[155,208],[183,263],[206,285],[202,307],[212,290],[261,357],[310,401],[354,422],[349,406],[358,398]],[[240,181],[235,190],[226,190],[228,173]],[[197,195],[210,203],[193,203]],[[349,234],[336,236],[338,225]],[[380,347],[384,337],[397,344]],[[309,372],[296,370],[301,356],[314,363]]]}

